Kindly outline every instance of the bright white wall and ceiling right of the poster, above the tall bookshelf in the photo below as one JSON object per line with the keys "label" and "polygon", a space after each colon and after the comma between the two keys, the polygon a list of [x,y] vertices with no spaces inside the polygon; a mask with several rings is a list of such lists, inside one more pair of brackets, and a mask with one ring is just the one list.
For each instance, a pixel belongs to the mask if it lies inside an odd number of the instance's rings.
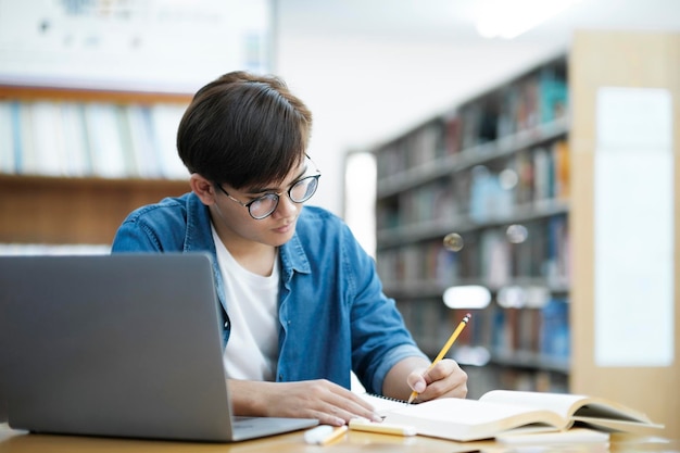
{"label": "bright white wall and ceiling right of the poster, above the tall bookshelf", "polygon": [[[320,167],[339,168],[347,150],[391,139],[565,51],[577,28],[680,30],[673,0],[581,0],[512,39],[477,28],[486,17],[521,28],[545,3],[566,2],[278,1],[276,72],[316,115]],[[315,202],[342,213],[341,175],[328,173]]]}

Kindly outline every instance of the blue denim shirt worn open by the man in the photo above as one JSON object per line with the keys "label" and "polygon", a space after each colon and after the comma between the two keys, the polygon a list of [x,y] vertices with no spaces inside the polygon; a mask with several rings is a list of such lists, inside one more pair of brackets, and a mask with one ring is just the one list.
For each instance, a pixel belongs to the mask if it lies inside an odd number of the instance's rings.
{"label": "blue denim shirt worn open by the man", "polygon": [[[209,210],[194,193],[133,212],[112,251],[210,252],[219,302],[228,312]],[[279,261],[277,381],[325,378],[350,388],[353,369],[367,391],[381,393],[396,362],[425,357],[394,301],[382,293],[373,259],[339,217],[305,206]],[[230,326],[228,313],[222,313],[226,344]]]}

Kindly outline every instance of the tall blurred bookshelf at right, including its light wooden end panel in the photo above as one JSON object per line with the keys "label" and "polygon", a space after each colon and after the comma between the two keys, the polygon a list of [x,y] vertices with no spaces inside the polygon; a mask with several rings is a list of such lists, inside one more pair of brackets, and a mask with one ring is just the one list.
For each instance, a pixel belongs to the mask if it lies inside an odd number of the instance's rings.
{"label": "tall blurred bookshelf at right, including its light wooden end panel", "polygon": [[677,33],[578,30],[373,150],[378,272],[425,352],[468,311],[446,288],[493,295],[453,348],[471,398],[594,394],[680,436],[678,62]]}

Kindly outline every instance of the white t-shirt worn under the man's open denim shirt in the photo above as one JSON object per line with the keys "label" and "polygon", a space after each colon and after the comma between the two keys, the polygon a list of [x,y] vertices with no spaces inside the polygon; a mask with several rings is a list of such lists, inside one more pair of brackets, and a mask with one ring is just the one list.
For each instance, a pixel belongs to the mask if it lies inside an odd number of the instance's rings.
{"label": "white t-shirt worn under the man's open denim shirt", "polygon": [[224,352],[227,376],[272,381],[278,362],[278,260],[270,276],[253,274],[231,256],[214,227],[212,230],[231,326]]}

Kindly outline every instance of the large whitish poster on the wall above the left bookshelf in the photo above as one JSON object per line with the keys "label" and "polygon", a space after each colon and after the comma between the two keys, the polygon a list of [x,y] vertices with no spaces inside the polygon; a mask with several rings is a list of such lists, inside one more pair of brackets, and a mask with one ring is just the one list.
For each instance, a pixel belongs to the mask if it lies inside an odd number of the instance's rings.
{"label": "large whitish poster on the wall above the left bookshelf", "polygon": [[274,0],[0,0],[0,84],[193,92],[272,72]]}

